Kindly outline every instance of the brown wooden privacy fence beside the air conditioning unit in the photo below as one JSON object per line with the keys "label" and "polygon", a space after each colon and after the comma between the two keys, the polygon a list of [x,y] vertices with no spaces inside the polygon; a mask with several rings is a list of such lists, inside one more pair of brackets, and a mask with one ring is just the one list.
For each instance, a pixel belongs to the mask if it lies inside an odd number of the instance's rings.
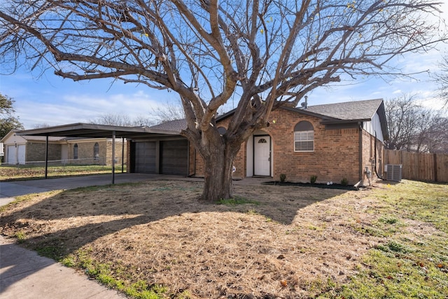
{"label": "brown wooden privacy fence beside the air conditioning unit", "polygon": [[448,154],[384,150],[384,165],[401,164],[402,178],[448,182]]}

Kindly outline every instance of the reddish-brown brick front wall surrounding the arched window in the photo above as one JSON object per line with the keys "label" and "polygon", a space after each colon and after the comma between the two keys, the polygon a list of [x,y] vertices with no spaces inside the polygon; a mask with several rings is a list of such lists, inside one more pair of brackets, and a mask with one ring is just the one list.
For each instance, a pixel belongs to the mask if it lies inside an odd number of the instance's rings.
{"label": "reddish-brown brick front wall surrounding the arched window", "polygon": [[[307,120],[314,126],[313,152],[294,151],[294,127],[301,120]],[[219,126],[227,127],[229,121],[230,118],[227,118]],[[359,181],[359,129],[325,130],[325,125],[320,122],[320,118],[285,109],[272,111],[270,125],[263,130],[272,138],[274,179],[279,180],[280,174],[286,174],[286,181],[309,182],[311,175],[317,176],[318,183],[340,183],[342,179],[347,179],[349,184]],[[374,137],[363,131],[363,165],[371,162],[373,142]],[[235,177],[246,176],[246,160],[244,143],[235,159]],[[202,158],[196,154],[196,175],[203,174]]]}

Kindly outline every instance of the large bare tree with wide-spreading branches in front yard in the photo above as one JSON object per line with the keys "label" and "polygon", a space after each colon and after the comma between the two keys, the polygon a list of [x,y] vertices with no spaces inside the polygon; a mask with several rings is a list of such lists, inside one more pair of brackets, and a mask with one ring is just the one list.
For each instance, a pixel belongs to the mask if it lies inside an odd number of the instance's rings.
{"label": "large bare tree with wide-spreading branches in front yard", "polygon": [[[73,81],[113,78],[181,98],[181,134],[204,159],[202,198],[232,197],[241,144],[269,113],[358,75],[398,75],[396,55],[444,36],[426,0],[10,0],[0,4],[1,63],[25,57]],[[433,21],[431,21],[433,20]],[[216,112],[237,102],[225,134]]]}

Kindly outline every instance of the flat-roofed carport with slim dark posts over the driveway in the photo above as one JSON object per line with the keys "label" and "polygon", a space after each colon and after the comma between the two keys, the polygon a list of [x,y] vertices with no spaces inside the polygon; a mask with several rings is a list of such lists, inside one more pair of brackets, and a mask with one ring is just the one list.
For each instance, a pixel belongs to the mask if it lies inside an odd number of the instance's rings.
{"label": "flat-roofed carport with slim dark posts over the driveway", "polygon": [[[150,127],[123,127],[116,125],[96,125],[90,123],[73,123],[69,125],[59,125],[55,127],[43,127],[32,130],[22,130],[16,132],[18,135],[31,135],[31,136],[45,136],[45,179],[48,177],[48,137],[78,137],[78,138],[111,138],[112,139],[112,156],[115,158],[116,153],[116,138],[130,140],[151,140],[151,139],[167,139],[165,144],[176,146],[174,141],[170,141],[172,137],[180,137],[180,131],[176,130],[160,130],[151,129]],[[185,139],[186,141],[186,139]],[[155,142],[155,141],[154,141]],[[141,144],[148,144],[148,142]],[[185,142],[184,142],[185,144]],[[188,141],[186,141],[188,145]],[[179,145],[179,141],[178,141]],[[124,147],[124,142],[122,142]],[[123,148],[124,149],[124,148]],[[122,153],[124,153],[122,149]],[[188,146],[187,146],[188,151]],[[145,153],[145,151],[139,151],[139,153]],[[124,154],[123,154],[124,155]],[[175,154],[173,155],[173,158]],[[122,157],[124,158],[124,157]],[[122,169],[123,169],[122,159]],[[115,159],[112,159],[112,178],[111,182],[115,183]],[[164,164],[162,164],[164,165]],[[169,166],[169,163],[165,162],[165,165]],[[175,173],[174,173],[175,174]]]}

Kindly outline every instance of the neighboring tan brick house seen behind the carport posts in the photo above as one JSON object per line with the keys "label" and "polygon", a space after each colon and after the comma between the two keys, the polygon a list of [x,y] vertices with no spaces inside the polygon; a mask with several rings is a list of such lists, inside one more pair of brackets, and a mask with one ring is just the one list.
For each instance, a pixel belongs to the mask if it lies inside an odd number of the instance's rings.
{"label": "neighboring tan brick house seen behind the carport posts", "polygon": [[[5,150],[3,163],[17,165],[44,162],[46,137],[18,135],[16,132],[10,131],[1,139]],[[121,139],[116,141],[117,162],[121,162],[122,144]],[[111,165],[111,148],[112,140],[106,138],[80,139],[50,136],[48,137],[48,160],[69,164]]]}

